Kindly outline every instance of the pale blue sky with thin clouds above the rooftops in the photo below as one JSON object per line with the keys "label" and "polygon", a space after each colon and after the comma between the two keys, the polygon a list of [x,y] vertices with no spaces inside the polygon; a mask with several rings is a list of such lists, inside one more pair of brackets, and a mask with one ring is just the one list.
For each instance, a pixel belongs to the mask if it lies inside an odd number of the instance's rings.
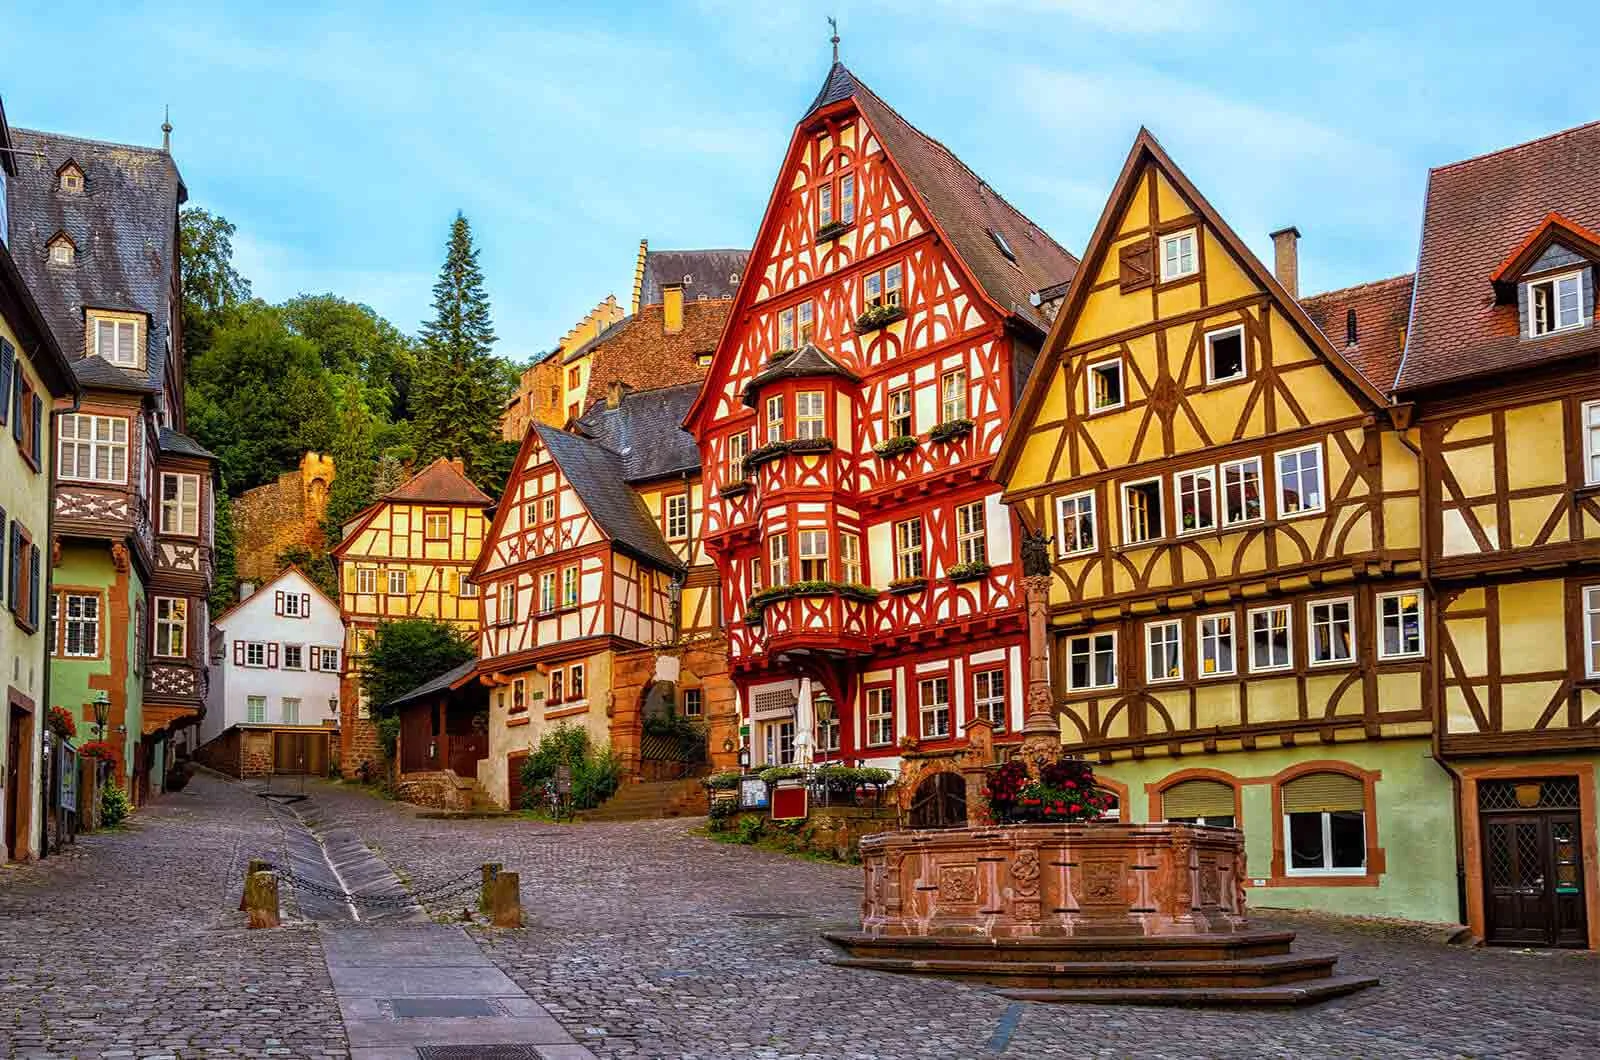
{"label": "pale blue sky with thin clouds above the rooftops", "polygon": [[272,301],[334,291],[414,330],[466,211],[522,360],[626,301],[642,237],[754,240],[829,13],[864,82],[1069,250],[1142,123],[1264,259],[1299,226],[1318,291],[1411,267],[1427,167],[1600,117],[1581,11],[30,2],[5,18],[0,94],[13,125],[146,144],[171,104],[190,202],[238,226]]}

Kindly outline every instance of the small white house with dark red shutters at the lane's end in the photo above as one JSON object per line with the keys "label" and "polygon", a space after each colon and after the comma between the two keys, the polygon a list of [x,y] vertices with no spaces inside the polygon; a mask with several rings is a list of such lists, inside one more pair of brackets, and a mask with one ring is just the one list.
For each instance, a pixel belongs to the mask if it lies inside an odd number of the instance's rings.
{"label": "small white house with dark red shutters at the lane's end", "polygon": [[285,567],[213,623],[202,743],[234,725],[338,725],[342,644],[339,605]]}

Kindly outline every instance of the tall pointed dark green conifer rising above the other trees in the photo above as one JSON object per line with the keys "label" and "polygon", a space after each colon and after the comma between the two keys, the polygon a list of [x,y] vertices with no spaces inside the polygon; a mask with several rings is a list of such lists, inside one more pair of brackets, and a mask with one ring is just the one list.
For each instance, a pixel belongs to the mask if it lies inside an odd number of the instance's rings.
{"label": "tall pointed dark green conifer rising above the other trees", "polygon": [[499,447],[506,373],[493,354],[494,325],[472,227],[456,213],[434,283],[434,319],[422,325],[411,386],[419,464],[461,456],[469,476],[490,471]]}

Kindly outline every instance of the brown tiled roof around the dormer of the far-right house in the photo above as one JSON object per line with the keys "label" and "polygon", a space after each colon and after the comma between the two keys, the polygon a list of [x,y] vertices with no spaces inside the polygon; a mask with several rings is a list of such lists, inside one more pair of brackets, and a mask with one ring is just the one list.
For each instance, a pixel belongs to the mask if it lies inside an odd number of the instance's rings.
{"label": "brown tiled roof around the dormer of the far-right house", "polygon": [[1429,173],[1416,306],[1397,389],[1512,371],[1600,349],[1584,328],[1525,339],[1491,280],[1550,213],[1600,227],[1600,122]]}

